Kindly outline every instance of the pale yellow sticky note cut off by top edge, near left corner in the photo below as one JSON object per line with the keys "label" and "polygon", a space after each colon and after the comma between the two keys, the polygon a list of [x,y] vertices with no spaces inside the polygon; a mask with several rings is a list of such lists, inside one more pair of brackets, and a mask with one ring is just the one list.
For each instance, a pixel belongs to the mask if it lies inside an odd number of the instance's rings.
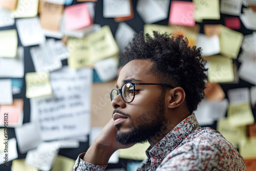
{"label": "pale yellow sticky note cut off by top edge, near left corner", "polygon": [[39,0],[18,0],[17,8],[12,12],[13,18],[35,17],[38,12]]}

